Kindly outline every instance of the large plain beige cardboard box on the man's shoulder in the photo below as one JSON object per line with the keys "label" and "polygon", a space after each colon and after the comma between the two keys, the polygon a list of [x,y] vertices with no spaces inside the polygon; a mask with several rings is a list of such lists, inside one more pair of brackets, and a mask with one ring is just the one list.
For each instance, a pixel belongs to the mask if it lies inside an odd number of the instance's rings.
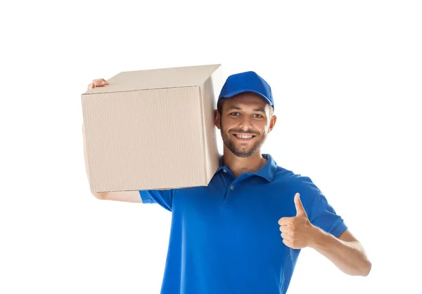
{"label": "large plain beige cardboard box on the man's shoulder", "polygon": [[93,192],[207,186],[221,65],[120,72],[82,94]]}

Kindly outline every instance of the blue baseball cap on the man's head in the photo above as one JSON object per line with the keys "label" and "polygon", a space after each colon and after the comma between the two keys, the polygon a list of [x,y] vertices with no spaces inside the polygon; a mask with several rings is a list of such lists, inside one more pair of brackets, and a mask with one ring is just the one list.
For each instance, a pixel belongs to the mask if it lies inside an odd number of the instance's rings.
{"label": "blue baseball cap on the man's head", "polygon": [[240,72],[231,75],[226,79],[222,91],[218,96],[218,101],[222,98],[231,98],[241,93],[252,92],[264,98],[270,106],[274,108],[274,100],[271,87],[256,72]]}

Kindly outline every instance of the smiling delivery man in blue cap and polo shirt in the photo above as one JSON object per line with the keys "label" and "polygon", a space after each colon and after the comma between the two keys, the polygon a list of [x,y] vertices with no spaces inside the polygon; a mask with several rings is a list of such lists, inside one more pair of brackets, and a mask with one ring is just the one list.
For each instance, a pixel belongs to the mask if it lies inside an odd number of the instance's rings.
{"label": "smiling delivery man in blue cap and polo shirt", "polygon": [[[107,85],[96,79],[89,89]],[[172,212],[162,292],[286,293],[300,249],[346,274],[371,269],[364,248],[309,179],[261,154],[276,124],[269,84],[255,72],[226,79],[215,110],[224,153],[208,186],[94,193]]]}

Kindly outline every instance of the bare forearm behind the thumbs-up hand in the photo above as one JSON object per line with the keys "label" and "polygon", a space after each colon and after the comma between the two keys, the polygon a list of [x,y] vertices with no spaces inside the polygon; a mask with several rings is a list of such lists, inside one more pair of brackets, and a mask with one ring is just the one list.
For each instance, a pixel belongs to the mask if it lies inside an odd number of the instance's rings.
{"label": "bare forearm behind the thumbs-up hand", "polygon": [[314,241],[310,247],[331,260],[345,274],[367,276],[371,270],[371,262],[359,242],[340,240],[315,227]]}

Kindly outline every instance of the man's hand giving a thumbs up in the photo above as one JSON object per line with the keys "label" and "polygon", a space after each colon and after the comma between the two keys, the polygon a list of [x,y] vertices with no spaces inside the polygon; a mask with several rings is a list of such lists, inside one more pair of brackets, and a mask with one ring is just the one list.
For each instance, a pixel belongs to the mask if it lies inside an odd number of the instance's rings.
{"label": "man's hand giving a thumbs up", "polygon": [[296,216],[281,217],[279,225],[283,243],[290,248],[301,249],[312,244],[317,229],[309,222],[299,193],[295,194],[294,201]]}

